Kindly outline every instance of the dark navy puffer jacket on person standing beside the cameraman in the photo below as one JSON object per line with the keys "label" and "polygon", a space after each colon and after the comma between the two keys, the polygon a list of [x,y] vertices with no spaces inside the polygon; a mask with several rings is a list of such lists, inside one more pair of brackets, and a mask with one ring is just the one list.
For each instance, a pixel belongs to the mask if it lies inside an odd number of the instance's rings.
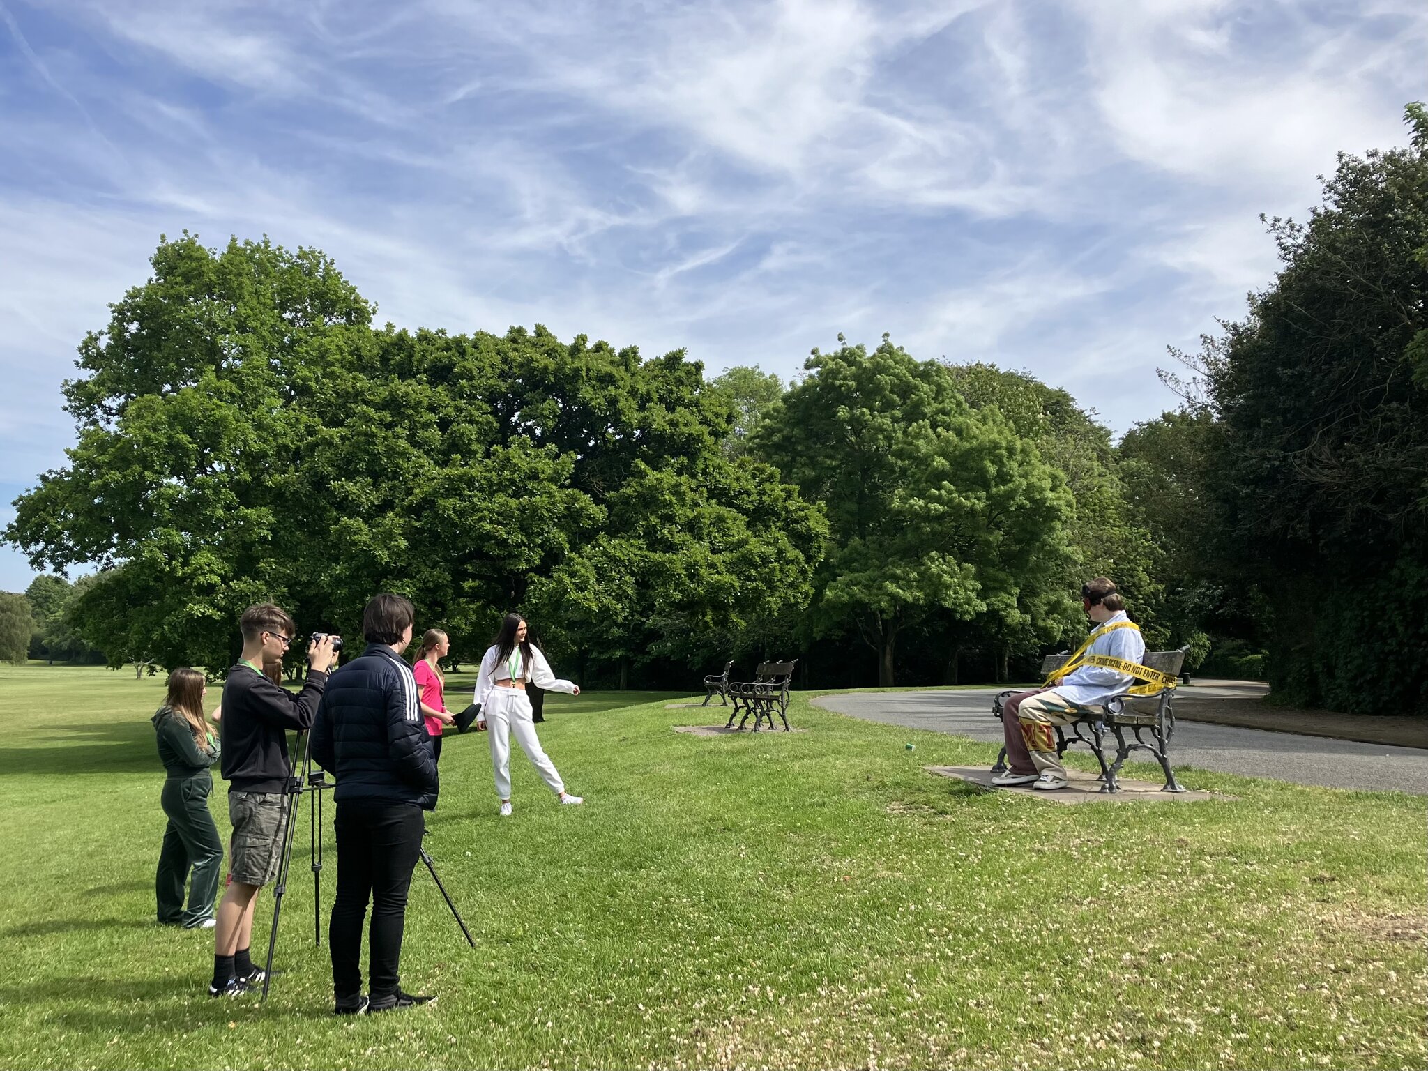
{"label": "dark navy puffer jacket on person standing beside the cameraman", "polygon": [[386,644],[327,680],[313,721],[313,758],[337,777],[337,800],[437,805],[437,763],[411,670]]}

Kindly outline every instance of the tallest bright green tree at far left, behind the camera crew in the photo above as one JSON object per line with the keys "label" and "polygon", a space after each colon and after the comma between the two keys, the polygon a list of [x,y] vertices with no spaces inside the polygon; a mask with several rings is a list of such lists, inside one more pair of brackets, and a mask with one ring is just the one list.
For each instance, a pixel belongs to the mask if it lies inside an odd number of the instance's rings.
{"label": "tallest bright green tree at far left, behind the camera crew", "polygon": [[311,436],[304,401],[371,310],[316,250],[214,251],[184,234],[151,264],[81,343],[69,466],[16,500],[6,537],[39,567],[103,570],[81,620],[123,608],[146,654],[217,668],[244,605],[291,597],[287,563],[308,536],[284,508]]}

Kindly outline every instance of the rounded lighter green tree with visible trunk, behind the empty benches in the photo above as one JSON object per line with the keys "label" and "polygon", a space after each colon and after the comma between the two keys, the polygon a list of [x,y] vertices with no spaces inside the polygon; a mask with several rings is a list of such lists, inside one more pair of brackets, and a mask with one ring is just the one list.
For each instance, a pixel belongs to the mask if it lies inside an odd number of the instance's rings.
{"label": "rounded lighter green tree with visible trunk, behind the empty benches", "polygon": [[[998,413],[974,413],[945,368],[884,336],[817,350],[753,437],[828,514],[814,631],[853,631],[895,680],[902,630],[930,614],[1034,627],[1028,577],[1067,553],[1057,473]],[[1034,583],[1034,581],[1032,581]]]}

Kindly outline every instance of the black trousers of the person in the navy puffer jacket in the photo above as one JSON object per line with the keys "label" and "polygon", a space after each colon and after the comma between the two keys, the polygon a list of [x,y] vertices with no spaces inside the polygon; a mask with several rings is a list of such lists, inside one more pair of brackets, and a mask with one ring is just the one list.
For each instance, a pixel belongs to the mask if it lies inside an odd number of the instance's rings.
{"label": "black trousers of the person in the navy puffer jacket", "polygon": [[361,995],[361,924],[368,931],[373,1004],[397,992],[401,928],[411,871],[421,857],[421,808],[391,800],[337,801],[337,900],[327,925],[333,990],[338,1001]]}

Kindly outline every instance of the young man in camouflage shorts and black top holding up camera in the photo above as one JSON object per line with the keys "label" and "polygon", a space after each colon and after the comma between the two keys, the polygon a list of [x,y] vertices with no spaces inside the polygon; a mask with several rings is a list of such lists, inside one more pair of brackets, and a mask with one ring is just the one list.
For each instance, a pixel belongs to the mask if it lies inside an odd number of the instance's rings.
{"label": "young man in camouflage shorts and black top holding up camera", "polygon": [[230,883],[214,931],[208,995],[233,997],[263,981],[248,944],[258,890],[277,877],[291,764],[287,731],[306,731],[317,714],[327,674],[337,661],[336,637],[314,637],[307,648],[307,680],[296,695],[274,684],[263,667],[281,661],[297,634],[293,618],[271,603],[248,607],[238,620],[243,657],[223,685],[221,770],[228,783]]}

